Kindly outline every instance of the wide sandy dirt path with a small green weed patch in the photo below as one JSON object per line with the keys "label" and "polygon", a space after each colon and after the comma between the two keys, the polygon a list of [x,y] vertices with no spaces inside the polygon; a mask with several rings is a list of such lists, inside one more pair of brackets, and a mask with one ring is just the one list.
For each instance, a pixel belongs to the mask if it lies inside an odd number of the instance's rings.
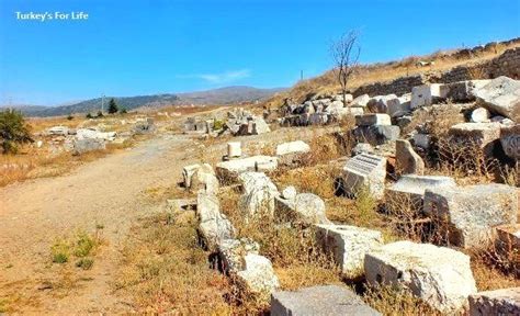
{"label": "wide sandy dirt path with a small green weed patch", "polygon": [[[0,307],[25,314],[128,312],[111,287],[121,242],[133,221],[160,210],[144,192],[179,180],[191,144],[182,135],[157,136],[70,174],[0,189]],[[91,270],[50,263],[56,238],[97,225],[108,242]]]}

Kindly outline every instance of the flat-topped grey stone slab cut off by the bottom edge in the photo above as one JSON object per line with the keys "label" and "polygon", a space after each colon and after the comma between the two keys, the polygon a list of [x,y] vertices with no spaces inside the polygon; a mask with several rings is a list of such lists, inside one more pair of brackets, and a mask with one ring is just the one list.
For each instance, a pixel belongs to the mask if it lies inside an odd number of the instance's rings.
{"label": "flat-topped grey stone slab cut off by the bottom edge", "polygon": [[371,316],[381,315],[344,286],[320,285],[271,296],[272,316]]}

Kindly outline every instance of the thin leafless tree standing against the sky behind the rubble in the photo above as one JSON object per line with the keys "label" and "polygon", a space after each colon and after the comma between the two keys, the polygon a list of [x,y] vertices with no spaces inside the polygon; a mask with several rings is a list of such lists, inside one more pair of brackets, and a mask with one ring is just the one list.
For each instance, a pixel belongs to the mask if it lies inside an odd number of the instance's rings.
{"label": "thin leafless tree standing against the sky behind the rubble", "polygon": [[347,106],[347,84],[350,77],[359,65],[358,60],[361,47],[358,45],[358,32],[350,31],[341,35],[341,37],[330,45],[330,54],[335,61],[335,75],[341,86],[343,94],[343,105]]}

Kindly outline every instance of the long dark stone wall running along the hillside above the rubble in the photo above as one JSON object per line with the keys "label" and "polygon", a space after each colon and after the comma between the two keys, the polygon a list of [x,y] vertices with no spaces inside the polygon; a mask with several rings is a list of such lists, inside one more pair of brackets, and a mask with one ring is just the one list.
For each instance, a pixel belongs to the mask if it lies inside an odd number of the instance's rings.
{"label": "long dark stone wall running along the hillside above the rubble", "polygon": [[443,72],[428,72],[402,77],[393,81],[375,82],[362,86],[352,92],[354,97],[361,94],[385,95],[411,92],[411,88],[425,83],[451,83],[471,79],[493,79],[507,76],[520,79],[520,47],[504,52],[500,56],[479,64],[454,67]]}

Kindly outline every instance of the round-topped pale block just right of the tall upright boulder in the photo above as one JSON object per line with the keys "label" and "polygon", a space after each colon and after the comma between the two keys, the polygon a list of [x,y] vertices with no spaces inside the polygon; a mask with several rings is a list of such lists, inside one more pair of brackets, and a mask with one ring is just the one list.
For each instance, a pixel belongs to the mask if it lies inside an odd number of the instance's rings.
{"label": "round-topped pale block just right of the tall upright boulder", "polygon": [[275,199],[275,216],[282,222],[304,224],[329,224],[325,202],[313,193],[298,193],[294,200]]}

